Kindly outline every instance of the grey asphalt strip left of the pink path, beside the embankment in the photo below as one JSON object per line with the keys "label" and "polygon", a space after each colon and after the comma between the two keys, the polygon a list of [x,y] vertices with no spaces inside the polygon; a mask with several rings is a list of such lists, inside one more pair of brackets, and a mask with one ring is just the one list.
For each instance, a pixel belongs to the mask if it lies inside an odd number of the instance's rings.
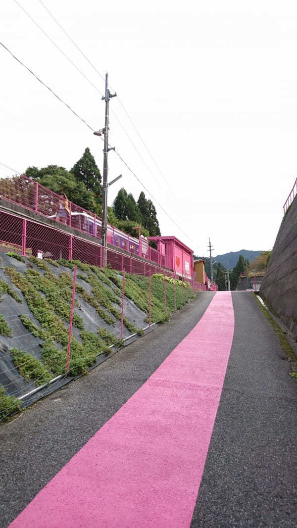
{"label": "grey asphalt strip left of the pink path, beside the embankment", "polygon": [[145,383],[197,324],[213,296],[200,292],[168,323],[0,427],[1,528]]}

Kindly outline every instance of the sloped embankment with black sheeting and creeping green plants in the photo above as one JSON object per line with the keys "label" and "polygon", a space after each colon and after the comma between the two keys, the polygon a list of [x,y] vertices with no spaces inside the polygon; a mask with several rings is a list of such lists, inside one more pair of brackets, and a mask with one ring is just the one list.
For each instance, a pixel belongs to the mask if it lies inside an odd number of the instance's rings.
{"label": "sloped embankment with black sheeting and creeping green plants", "polygon": [[[73,268],[77,270],[68,376],[85,373],[121,346],[122,275],[79,261],[40,260],[15,254],[0,263],[0,419],[22,397],[66,375]],[[164,322],[164,285],[152,278],[151,322]],[[188,292],[187,292],[188,293]],[[123,338],[148,322],[149,278],[126,275]],[[177,285],[177,305],[187,299]],[[168,313],[174,285],[166,286]]]}

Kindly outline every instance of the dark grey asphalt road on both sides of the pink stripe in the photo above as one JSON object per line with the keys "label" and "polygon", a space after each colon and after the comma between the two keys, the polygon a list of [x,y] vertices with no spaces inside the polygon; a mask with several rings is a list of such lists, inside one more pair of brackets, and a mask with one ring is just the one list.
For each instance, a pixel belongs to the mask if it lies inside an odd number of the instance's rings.
{"label": "dark grey asphalt road on both sides of the pink stripe", "polygon": [[[0,427],[1,527],[146,382],[213,295],[200,293],[169,323]],[[297,384],[253,294],[235,292],[233,304],[234,340],[191,528],[295,527]]]}

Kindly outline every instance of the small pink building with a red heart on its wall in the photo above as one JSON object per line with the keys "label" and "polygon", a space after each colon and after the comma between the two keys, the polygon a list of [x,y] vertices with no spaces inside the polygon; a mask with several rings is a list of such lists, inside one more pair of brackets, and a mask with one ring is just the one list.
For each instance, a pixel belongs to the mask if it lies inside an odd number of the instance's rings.
{"label": "small pink building with a red heart on its wall", "polygon": [[161,265],[173,269],[175,273],[185,278],[193,277],[192,249],[175,237],[149,237],[149,240],[157,244],[160,259],[162,259]]}

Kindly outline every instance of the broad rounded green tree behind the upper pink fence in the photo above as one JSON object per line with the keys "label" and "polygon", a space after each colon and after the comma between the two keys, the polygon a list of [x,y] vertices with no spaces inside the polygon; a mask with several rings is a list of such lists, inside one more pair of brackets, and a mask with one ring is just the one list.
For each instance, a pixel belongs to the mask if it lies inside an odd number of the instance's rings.
{"label": "broad rounded green tree behind the upper pink fence", "polygon": [[[83,182],[78,182],[75,175],[68,172],[66,168],[59,167],[58,165],[49,165],[38,169],[37,167],[28,167],[26,176],[33,178],[36,182],[39,182],[44,187],[49,188],[51,191],[57,194],[65,193],[68,200],[80,205],[88,211],[100,214],[100,205],[94,198],[94,193],[88,191]],[[45,191],[44,191],[45,192]],[[46,204],[51,203],[50,196],[48,198],[43,197],[43,202]]]}

